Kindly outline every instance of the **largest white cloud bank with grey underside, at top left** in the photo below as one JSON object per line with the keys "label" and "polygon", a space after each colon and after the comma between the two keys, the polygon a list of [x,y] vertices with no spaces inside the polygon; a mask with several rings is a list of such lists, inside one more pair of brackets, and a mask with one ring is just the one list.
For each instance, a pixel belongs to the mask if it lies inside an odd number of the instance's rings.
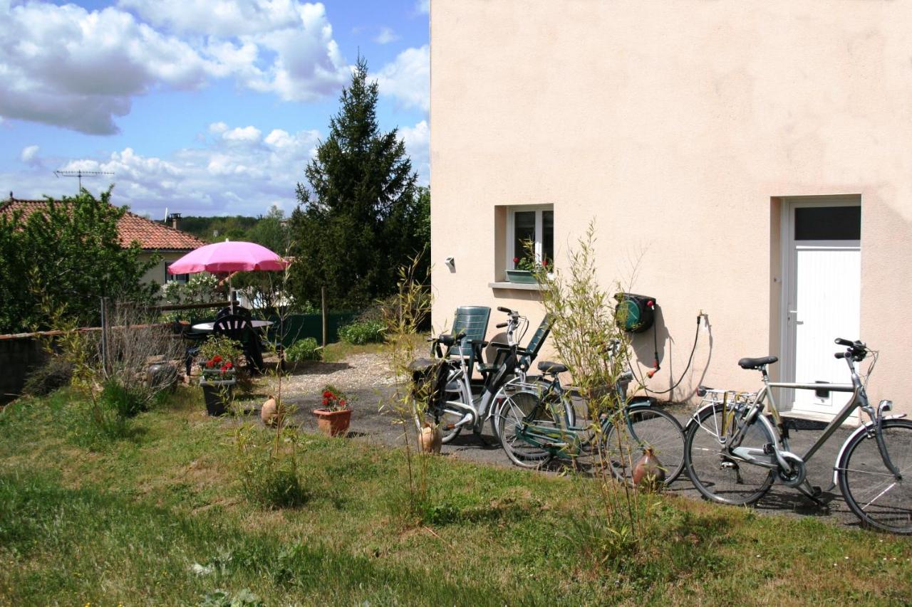
{"label": "largest white cloud bank with grey underside, at top left", "polygon": [[321,4],[298,0],[0,0],[0,117],[107,135],[132,98],[230,77],[286,101],[325,98],[351,73]]}

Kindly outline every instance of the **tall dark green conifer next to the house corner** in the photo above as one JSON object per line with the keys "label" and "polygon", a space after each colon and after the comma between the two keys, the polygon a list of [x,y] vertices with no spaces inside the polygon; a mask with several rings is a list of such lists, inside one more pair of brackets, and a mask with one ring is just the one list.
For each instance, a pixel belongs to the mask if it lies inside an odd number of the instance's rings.
{"label": "tall dark green conifer next to the house corner", "polygon": [[[339,97],[329,136],[297,185],[292,213],[295,264],[291,289],[318,304],[326,287],[333,307],[359,307],[394,293],[396,269],[427,244],[417,175],[397,129],[381,133],[378,85],[358,58]],[[428,199],[430,201],[430,199]]]}

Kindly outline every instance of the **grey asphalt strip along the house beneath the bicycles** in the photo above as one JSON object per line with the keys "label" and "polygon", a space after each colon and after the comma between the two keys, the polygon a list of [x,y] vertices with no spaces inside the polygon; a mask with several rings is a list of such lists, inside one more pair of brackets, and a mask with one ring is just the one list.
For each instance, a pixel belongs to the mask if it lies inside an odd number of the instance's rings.
{"label": "grey asphalt strip along the house beneath the bicycles", "polygon": [[[389,411],[381,410],[381,405],[389,403],[395,390],[391,386],[375,386],[370,388],[348,390],[348,396],[353,401],[351,425],[347,437],[352,440],[363,441],[368,444],[386,447],[399,447],[403,445],[403,426],[397,423],[399,416]],[[319,406],[319,396],[287,396],[286,402],[295,405],[295,420],[306,432],[316,432],[316,419],[311,410]],[[681,406],[669,409],[678,417],[682,425],[686,425],[689,415],[694,408],[685,409]],[[409,432],[414,432],[414,425],[407,424]],[[818,425],[819,427],[819,425]],[[825,502],[824,507],[805,498],[795,489],[782,486],[778,482],[755,506],[758,512],[778,516],[817,517],[834,524],[846,527],[859,527],[855,515],[848,509],[845,500],[838,488],[833,484],[833,466],[839,448],[851,432],[850,428],[840,428],[824,444],[814,457],[807,463],[807,478],[812,485],[819,486],[823,493],[819,499]],[[793,452],[803,454],[810,448],[814,441],[821,435],[820,429],[799,429],[791,431],[791,448]],[[485,427],[482,439],[471,432],[463,430],[450,444],[444,445],[441,454],[444,457],[460,458],[468,461],[511,467],[513,464],[506,457],[503,448],[495,444],[490,427]],[[553,474],[555,469],[546,471],[528,471],[528,474]],[[697,489],[690,483],[686,472],[668,487],[671,495],[683,496],[689,499],[702,499]]]}

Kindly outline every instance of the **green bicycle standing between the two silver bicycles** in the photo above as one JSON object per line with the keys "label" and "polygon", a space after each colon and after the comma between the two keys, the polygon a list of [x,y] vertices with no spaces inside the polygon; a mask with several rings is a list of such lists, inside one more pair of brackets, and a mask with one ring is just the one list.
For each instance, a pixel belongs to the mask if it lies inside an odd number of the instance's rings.
{"label": "green bicycle standing between the two silver bicycles", "polygon": [[[617,343],[611,345],[611,354],[617,355]],[[600,456],[610,467],[615,478],[630,481],[634,458],[652,448],[663,468],[668,485],[679,477],[684,468],[684,432],[678,419],[662,409],[652,406],[651,399],[627,400],[626,386],[633,374],[629,370],[618,378],[615,386],[621,408],[619,427],[616,419],[607,414],[599,416],[587,427],[577,427],[558,412],[569,406],[569,392],[561,386],[558,374],[567,370],[565,365],[543,361],[538,369],[544,379],[536,384],[515,386],[522,389],[526,399],[534,399],[534,406],[516,406],[516,396],[504,399],[495,419],[498,435],[507,457],[523,468],[542,468],[553,458],[579,458],[591,454]],[[542,410],[550,410],[543,415]],[[551,418],[550,422],[542,419]],[[620,436],[620,430],[627,437]],[[627,440],[629,438],[629,440]]]}

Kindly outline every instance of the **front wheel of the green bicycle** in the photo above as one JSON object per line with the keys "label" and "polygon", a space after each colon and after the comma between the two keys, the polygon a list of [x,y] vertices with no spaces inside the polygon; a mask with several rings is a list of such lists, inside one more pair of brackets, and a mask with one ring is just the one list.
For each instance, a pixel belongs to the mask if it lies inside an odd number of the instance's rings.
{"label": "front wheel of the green bicycle", "polygon": [[[662,409],[635,407],[627,410],[626,423],[607,427],[602,443],[606,465],[619,480],[632,482],[637,459],[651,447],[665,470],[670,485],[684,469],[684,430],[673,415]],[[619,438],[619,442],[618,442]]]}

